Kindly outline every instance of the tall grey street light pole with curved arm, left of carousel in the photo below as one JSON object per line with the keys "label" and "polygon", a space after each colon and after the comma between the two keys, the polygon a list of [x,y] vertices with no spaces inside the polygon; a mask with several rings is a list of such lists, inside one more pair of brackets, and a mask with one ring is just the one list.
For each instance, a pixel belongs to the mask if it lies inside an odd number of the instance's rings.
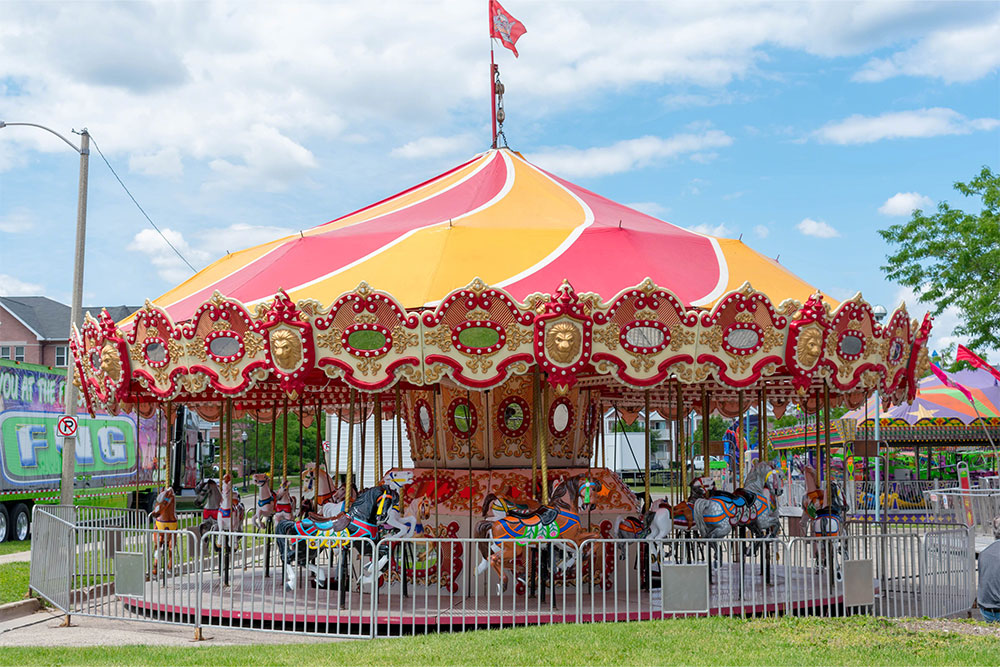
{"label": "tall grey street light pole with curved arm, left of carousel", "polygon": [[[80,154],[80,185],[76,199],[76,250],[73,259],[73,300],[70,304],[69,317],[72,325],[80,326],[82,322],[83,310],[83,252],[87,237],[87,176],[90,163],[90,134],[87,128],[80,130],[80,147],[77,148],[73,142],[59,134],[55,130],[38,125],[37,123],[5,123],[0,120],[0,129],[14,127],[16,125],[26,127],[37,127],[45,130],[49,134],[62,139],[74,151]],[[72,333],[72,332],[71,332]],[[77,415],[77,391],[73,383],[73,371],[76,369],[76,358],[73,348],[70,346],[69,368],[67,369],[66,382],[66,414],[76,417]],[[76,435],[63,439],[63,469],[62,481],[59,486],[59,504],[73,504],[73,478],[76,476]],[[136,462],[138,465],[138,462]]]}

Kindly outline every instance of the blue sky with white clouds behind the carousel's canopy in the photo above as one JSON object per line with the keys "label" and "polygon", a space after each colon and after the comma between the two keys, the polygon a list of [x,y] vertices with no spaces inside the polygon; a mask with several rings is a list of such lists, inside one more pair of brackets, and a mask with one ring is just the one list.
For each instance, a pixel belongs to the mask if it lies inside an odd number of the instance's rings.
{"label": "blue sky with white clouds behind the carousel's canopy", "polygon": [[[370,4],[8,2],[0,119],[87,126],[200,268],[488,147],[485,0]],[[907,296],[882,277],[877,229],[972,205],[952,183],[1000,167],[997,3],[505,7],[528,29],[519,59],[497,51],[512,148],[742,235],[840,298]],[[77,169],[41,131],[0,130],[0,293],[69,300]],[[88,232],[87,303],[141,303],[190,273],[96,151]]]}

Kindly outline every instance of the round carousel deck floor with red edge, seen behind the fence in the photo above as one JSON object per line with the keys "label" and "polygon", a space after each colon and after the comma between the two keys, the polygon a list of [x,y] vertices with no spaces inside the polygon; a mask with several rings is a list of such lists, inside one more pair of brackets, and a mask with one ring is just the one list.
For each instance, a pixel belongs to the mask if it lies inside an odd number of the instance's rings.
{"label": "round carousel deck floor with red edge, seen behind the fence", "polygon": [[[200,608],[206,625],[255,626],[271,629],[292,629],[304,624],[315,632],[344,633],[347,626],[367,625],[372,619],[373,603],[369,594],[357,590],[347,592],[342,607],[338,607],[337,590],[317,589],[306,577],[299,576],[297,589],[285,589],[282,574],[272,570],[264,577],[263,568],[237,569],[229,586],[222,586],[218,572],[205,575],[199,589],[194,578],[168,577],[147,582],[145,594],[119,595],[118,600],[131,611],[160,617],[193,618]],[[485,575],[484,575],[485,576]],[[764,586],[759,566],[749,564],[744,569],[744,589],[739,594],[738,566],[722,566],[713,573],[710,586],[708,615],[760,615],[775,613],[823,614],[824,609],[843,602],[841,595],[830,592],[827,578],[806,568],[793,568],[788,580],[784,569],[776,569],[772,585]],[[495,591],[495,577],[492,578]],[[650,591],[638,590],[633,577],[632,587],[617,591],[591,590],[588,585],[581,595],[579,618],[576,591],[573,587],[557,586],[555,594],[529,597],[523,592],[508,590],[487,594],[485,586],[466,596],[449,593],[430,586],[410,586],[409,596],[403,597],[398,582],[383,586],[377,593],[375,623],[383,628],[411,626],[414,629],[464,629],[491,625],[532,625],[575,621],[625,621],[669,617],[660,608],[658,581],[654,578]],[[669,584],[668,584],[669,585]],[[791,591],[789,608],[788,591]],[[512,583],[511,589],[514,588]],[[200,596],[200,604],[197,599]],[[704,610],[696,612],[705,615]],[[379,634],[393,634],[380,630]]]}

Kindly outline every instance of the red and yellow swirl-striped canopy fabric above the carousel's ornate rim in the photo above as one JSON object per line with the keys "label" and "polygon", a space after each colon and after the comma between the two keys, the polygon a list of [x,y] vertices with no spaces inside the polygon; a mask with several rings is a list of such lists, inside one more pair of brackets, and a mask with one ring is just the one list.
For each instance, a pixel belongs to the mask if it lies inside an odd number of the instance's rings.
{"label": "red and yellow swirl-striped canopy fabric above the carousel's ornate rim", "polygon": [[282,288],[327,305],[366,281],[419,308],[476,277],[522,300],[564,279],[609,299],[648,277],[688,305],[710,305],[745,281],[774,303],[817,291],[741,241],[658,220],[500,149],[301,235],[227,255],[155,303],[181,321],[215,290],[250,305]]}

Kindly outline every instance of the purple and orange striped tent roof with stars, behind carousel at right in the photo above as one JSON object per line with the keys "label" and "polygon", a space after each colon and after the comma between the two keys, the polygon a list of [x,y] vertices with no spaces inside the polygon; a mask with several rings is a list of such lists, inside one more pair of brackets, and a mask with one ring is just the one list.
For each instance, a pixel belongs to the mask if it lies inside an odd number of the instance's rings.
{"label": "purple and orange striped tent roof with stars, behind carousel at right", "polygon": [[[976,399],[976,409],[983,419],[1000,417],[1000,385],[986,371],[965,370],[956,373],[948,373],[948,377],[961,385],[965,385]],[[866,405],[862,405],[845,415],[845,418],[854,419],[858,424],[869,422],[875,419],[875,396],[868,399]],[[913,425],[922,420],[930,424],[938,422],[942,425],[970,424],[977,419],[976,410],[973,409],[962,392],[951,387],[944,386],[934,375],[921,378],[917,397],[912,403],[894,405],[882,410],[882,419],[892,420],[897,425]]]}

